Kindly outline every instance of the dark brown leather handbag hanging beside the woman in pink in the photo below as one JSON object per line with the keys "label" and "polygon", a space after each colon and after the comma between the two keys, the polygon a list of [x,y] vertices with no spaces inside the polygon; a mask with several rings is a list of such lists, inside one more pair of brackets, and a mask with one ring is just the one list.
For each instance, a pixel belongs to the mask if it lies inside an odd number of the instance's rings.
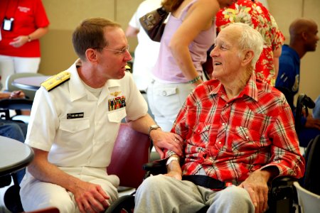
{"label": "dark brown leather handbag hanging beside the woman in pink", "polygon": [[169,12],[164,7],[160,7],[139,18],[142,28],[144,28],[144,31],[146,31],[151,40],[160,42],[161,36],[164,33],[164,27],[166,26],[164,21],[168,15]]}

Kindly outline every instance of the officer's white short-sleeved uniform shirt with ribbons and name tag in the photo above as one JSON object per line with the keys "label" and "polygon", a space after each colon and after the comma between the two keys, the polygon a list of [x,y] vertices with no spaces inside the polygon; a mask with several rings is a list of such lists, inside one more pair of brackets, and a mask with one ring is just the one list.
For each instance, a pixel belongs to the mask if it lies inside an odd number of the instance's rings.
{"label": "officer's white short-sleeved uniform shirt with ribbons and name tag", "polygon": [[36,92],[25,143],[49,151],[49,162],[58,167],[105,168],[122,119],[139,119],[148,107],[129,73],[108,80],[95,97],[80,80],[77,63],[67,70],[70,80]]}

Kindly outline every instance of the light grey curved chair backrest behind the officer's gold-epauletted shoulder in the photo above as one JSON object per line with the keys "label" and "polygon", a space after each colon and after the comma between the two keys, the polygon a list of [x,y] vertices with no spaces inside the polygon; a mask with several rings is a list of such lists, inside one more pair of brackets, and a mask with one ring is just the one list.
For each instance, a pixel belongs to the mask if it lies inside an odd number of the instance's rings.
{"label": "light grey curved chair backrest behind the officer's gold-epauletted shoulder", "polygon": [[5,89],[8,92],[13,92],[15,90],[22,90],[24,92],[24,94],[26,94],[26,97],[28,97],[28,99],[33,100],[34,95],[36,94],[36,91],[15,87],[14,85],[12,85],[12,82],[19,77],[33,77],[33,76],[41,76],[41,75],[42,75],[41,73],[33,73],[33,72],[21,72],[21,73],[11,74],[11,75],[9,75],[9,77],[6,78]]}

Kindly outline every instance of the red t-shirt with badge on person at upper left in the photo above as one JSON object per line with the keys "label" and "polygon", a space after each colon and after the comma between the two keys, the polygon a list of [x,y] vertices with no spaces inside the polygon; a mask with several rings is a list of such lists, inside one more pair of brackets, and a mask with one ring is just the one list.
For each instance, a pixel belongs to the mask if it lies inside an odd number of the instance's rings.
{"label": "red t-shirt with badge on person at upper left", "polygon": [[[14,18],[12,31],[4,31],[4,17]],[[49,25],[49,20],[41,0],[1,0],[0,1],[1,36],[0,55],[18,57],[40,57],[39,40],[32,40],[20,48],[9,45],[19,35],[29,35],[37,28]]]}

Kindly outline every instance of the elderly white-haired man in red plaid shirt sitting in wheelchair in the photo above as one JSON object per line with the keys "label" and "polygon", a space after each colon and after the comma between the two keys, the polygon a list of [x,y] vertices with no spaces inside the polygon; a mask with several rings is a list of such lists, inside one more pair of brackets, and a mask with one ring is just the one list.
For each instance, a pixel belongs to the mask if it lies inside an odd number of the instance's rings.
{"label": "elderly white-haired man in red plaid shirt sitting in wheelchair", "polygon": [[244,23],[218,34],[210,53],[214,80],[188,96],[172,129],[185,144],[182,166],[167,151],[168,173],[144,180],[134,212],[262,212],[270,180],[302,177],[289,104],[255,77],[262,45]]}

